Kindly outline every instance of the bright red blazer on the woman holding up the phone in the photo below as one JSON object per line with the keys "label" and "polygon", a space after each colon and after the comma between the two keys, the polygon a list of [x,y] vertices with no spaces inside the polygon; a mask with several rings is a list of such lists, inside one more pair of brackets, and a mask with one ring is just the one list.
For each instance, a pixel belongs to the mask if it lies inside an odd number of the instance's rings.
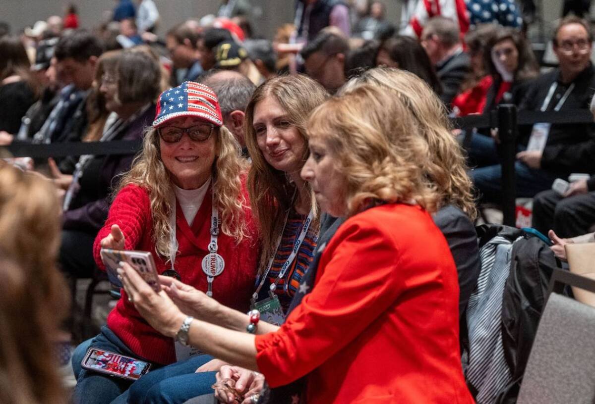
{"label": "bright red blazer on the woman holding up the phone", "polygon": [[309,404],[472,403],[456,267],[430,215],[374,207],[321,248],[312,293],[278,332],[256,336],[268,383],[308,374]]}

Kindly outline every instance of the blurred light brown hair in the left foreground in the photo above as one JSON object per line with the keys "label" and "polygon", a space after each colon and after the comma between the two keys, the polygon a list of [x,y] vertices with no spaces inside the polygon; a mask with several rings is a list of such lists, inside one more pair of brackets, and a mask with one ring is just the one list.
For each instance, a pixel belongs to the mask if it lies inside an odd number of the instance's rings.
{"label": "blurred light brown hair in the left foreground", "polygon": [[49,181],[0,163],[0,402],[61,404],[54,355],[70,293],[56,267],[60,205]]}

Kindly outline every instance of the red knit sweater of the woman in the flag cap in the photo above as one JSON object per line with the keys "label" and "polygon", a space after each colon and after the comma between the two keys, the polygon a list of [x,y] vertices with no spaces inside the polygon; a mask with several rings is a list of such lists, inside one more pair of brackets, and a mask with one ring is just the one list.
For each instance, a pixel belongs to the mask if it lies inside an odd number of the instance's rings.
{"label": "red knit sweater of the woman in the flag cap", "polygon": [[[176,238],[179,244],[176,271],[180,274],[182,282],[204,292],[208,284],[201,269],[201,262],[208,252],[207,246],[210,241],[211,206],[209,188],[192,227],[187,224],[180,207],[176,209]],[[225,260],[225,269],[213,282],[213,298],[240,311],[248,311],[258,264],[258,232],[248,208],[246,220],[250,238],[243,240],[239,245],[235,239],[220,232],[217,252]],[[100,241],[109,234],[114,224],[120,226],[124,233],[126,250],[151,251],[159,273],[170,269],[170,264],[165,263],[167,258],[156,254],[155,243],[151,240],[153,220],[149,194],[145,189],[127,185],[118,192],[109,209],[108,219],[99,231],[93,246],[95,261],[101,269],[105,267],[99,255]],[[140,358],[159,364],[176,361],[173,339],[163,336],[149,326],[128,301],[126,292],[122,291],[122,297],[109,313],[107,324],[109,329]]]}

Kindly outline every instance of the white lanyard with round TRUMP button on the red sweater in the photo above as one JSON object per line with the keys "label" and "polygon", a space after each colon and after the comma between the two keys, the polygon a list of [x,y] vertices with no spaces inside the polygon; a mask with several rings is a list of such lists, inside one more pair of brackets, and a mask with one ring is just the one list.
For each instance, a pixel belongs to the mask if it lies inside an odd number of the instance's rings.
{"label": "white lanyard with round TRUMP button on the red sweater", "polygon": [[[170,210],[170,226],[171,226],[171,233],[170,233],[170,262],[171,262],[171,270],[176,271],[174,269],[174,263],[176,261],[176,252],[178,251],[178,241],[176,238],[176,197],[174,195],[173,202],[171,203],[171,210]],[[220,275],[223,270],[225,269],[225,261],[220,254],[217,254],[217,238],[219,236],[219,211],[217,209],[217,204],[215,203],[215,192],[212,192],[212,209],[211,209],[211,242],[209,242],[208,250],[209,254],[206,254],[204,258],[202,258],[202,272],[206,275],[206,280],[208,282],[208,290],[206,295],[209,297],[213,296],[213,281],[215,280],[215,276]]]}

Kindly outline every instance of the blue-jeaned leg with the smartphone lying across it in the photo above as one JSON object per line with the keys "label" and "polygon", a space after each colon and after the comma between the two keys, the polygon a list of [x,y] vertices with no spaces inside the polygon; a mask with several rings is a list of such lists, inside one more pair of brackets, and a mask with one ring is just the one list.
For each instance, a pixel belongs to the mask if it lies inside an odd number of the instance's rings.
{"label": "blue-jeaned leg with the smartphone lying across it", "polygon": [[[120,394],[126,392],[132,381],[80,368],[80,362],[83,360],[84,353],[91,346],[109,352],[120,353],[120,355],[132,356],[133,358],[138,358],[138,355],[130,351],[120,338],[106,326],[101,327],[101,332],[98,336],[90,340],[90,342],[88,340],[83,342],[74,351],[73,370],[75,372],[79,371],[79,374],[76,387],[74,388],[73,403],[109,404],[120,396]],[[151,365],[153,369],[161,367],[159,364],[152,363]]]}

